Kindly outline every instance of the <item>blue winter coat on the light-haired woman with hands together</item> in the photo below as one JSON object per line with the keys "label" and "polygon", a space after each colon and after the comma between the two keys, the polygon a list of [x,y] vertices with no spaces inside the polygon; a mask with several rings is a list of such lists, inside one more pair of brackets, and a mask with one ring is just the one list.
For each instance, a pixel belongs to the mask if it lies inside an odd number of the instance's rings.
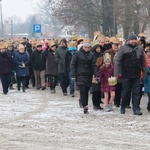
{"label": "blue winter coat on the light-haired woman with hands together", "polygon": [[[25,68],[21,68],[22,62],[25,64]],[[29,55],[27,52],[20,53],[16,52],[15,54],[15,64],[16,64],[16,76],[18,77],[24,77],[24,76],[29,76]]]}

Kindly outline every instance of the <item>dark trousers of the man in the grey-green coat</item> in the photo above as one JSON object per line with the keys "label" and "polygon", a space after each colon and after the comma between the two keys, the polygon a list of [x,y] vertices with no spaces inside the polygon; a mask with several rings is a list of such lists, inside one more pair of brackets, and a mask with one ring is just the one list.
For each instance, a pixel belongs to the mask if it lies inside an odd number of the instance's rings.
{"label": "dark trousers of the man in the grey-green coat", "polygon": [[63,73],[59,74],[60,86],[63,93],[67,93],[68,79]]}

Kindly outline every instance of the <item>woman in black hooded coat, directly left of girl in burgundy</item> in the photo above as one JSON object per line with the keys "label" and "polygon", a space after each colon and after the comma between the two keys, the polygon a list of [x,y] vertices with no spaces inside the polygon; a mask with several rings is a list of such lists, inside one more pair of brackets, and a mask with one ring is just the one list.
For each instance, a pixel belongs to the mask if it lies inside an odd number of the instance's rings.
{"label": "woman in black hooded coat, directly left of girl in burgundy", "polygon": [[[103,57],[102,57],[103,54],[101,53],[100,44],[96,44],[95,46],[93,46],[92,52],[94,54],[95,64],[96,64],[97,73],[98,73],[99,67],[102,65],[102,62],[103,62]],[[100,83],[100,81],[96,81],[95,76],[93,76],[93,79],[92,79],[91,92],[92,92],[93,109],[94,110],[103,109],[100,106],[100,103],[101,103],[101,83]]]}

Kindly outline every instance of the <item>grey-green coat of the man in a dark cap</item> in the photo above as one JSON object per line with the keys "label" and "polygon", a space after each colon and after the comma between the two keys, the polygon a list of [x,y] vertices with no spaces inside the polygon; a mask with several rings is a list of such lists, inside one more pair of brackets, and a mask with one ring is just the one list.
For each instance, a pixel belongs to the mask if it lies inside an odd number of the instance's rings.
{"label": "grey-green coat of the man in a dark cap", "polygon": [[66,74],[65,57],[68,51],[67,47],[59,47],[55,53],[55,61],[58,63],[58,73]]}

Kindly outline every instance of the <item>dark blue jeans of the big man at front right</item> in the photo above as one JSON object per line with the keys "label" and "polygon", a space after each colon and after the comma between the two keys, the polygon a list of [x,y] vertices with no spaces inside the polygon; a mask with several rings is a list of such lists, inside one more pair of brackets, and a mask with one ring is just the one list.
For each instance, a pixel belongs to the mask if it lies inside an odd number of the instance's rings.
{"label": "dark blue jeans of the big man at front right", "polygon": [[122,79],[122,100],[121,107],[125,108],[132,90],[133,111],[140,111],[140,78]]}

